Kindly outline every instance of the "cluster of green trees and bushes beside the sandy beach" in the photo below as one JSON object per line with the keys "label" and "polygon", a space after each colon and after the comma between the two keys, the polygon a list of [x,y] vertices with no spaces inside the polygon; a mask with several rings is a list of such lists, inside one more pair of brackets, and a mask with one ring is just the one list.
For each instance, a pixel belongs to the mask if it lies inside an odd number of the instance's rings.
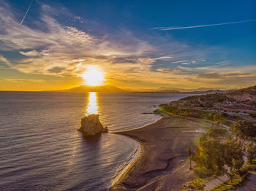
{"label": "cluster of green trees and bushes beside the sandy beach", "polygon": [[[200,137],[192,160],[195,161],[194,172],[201,179],[209,176],[222,176],[227,174],[230,181],[220,185],[216,190],[234,188],[246,179],[248,171],[256,170],[256,144],[248,138],[256,136],[256,126],[246,120],[234,122],[229,130],[222,127],[225,117],[222,114],[214,114],[213,126],[207,133]],[[244,161],[244,153],[247,154],[247,163]],[[192,188],[198,182],[192,182]]]}

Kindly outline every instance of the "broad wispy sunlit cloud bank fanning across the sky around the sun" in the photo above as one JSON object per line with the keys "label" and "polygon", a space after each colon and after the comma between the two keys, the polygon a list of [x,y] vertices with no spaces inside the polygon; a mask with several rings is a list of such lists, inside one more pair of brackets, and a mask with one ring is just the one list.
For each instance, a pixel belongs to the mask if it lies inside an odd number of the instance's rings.
{"label": "broad wispy sunlit cloud bank fanning across the sky around the sun", "polygon": [[[0,64],[23,72],[20,82],[36,82],[34,79],[26,79],[26,74],[39,74],[41,77],[52,75],[53,77],[44,77],[48,84],[53,82],[50,81],[53,78],[59,79],[59,84],[64,79],[71,78],[78,82],[78,77],[86,68],[94,65],[105,71],[108,85],[151,87],[173,83],[185,87],[191,85],[189,82],[192,80],[195,82],[200,79],[200,82],[193,84],[198,87],[204,86],[204,82],[217,79],[197,74],[216,72],[219,75],[222,71],[249,73],[255,69],[252,66],[221,68],[222,65],[217,66],[216,63],[214,66],[209,66],[210,63],[207,66],[198,63],[199,67],[185,67],[193,66],[197,61],[206,61],[206,56],[211,52],[220,52],[219,47],[190,47],[166,36],[153,36],[153,39],[152,36],[145,35],[139,38],[123,28],[116,28],[108,34],[108,30],[102,31],[102,26],[90,26],[94,28],[91,30],[94,31],[92,34],[86,29],[83,31],[78,28],[81,18],[72,15],[67,9],[55,9],[39,1],[35,2],[40,5],[39,17],[37,20],[24,22],[22,26],[16,18],[19,15],[17,12],[8,4],[0,5],[0,51],[14,52],[12,57],[7,56],[11,53],[3,53],[5,57],[0,55]],[[29,19],[29,15],[27,16]],[[63,17],[68,17],[72,24],[68,23],[68,19],[62,24],[58,18]],[[89,22],[86,20],[83,28]],[[73,23],[77,23],[77,27]],[[173,64],[172,69],[169,69],[170,63],[180,63],[181,66]],[[218,78],[220,81],[220,77]],[[19,79],[7,80],[18,82]]]}

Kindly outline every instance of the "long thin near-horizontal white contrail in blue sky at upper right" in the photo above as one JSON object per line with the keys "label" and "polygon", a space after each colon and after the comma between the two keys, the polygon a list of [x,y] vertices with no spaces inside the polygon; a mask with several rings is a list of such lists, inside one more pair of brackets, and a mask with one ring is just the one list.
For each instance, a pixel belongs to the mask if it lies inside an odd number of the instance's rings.
{"label": "long thin near-horizontal white contrail in blue sky at upper right", "polygon": [[149,28],[149,30],[157,30],[160,31],[171,31],[171,30],[178,30],[178,29],[185,29],[185,28],[200,28],[200,27],[208,27],[208,26],[224,26],[224,25],[230,25],[230,24],[236,24],[236,23],[247,23],[247,22],[254,22],[255,20],[241,20],[241,21],[235,21],[230,23],[217,23],[217,24],[211,24],[211,25],[203,25],[203,26],[181,26],[181,27],[157,27],[157,28]]}

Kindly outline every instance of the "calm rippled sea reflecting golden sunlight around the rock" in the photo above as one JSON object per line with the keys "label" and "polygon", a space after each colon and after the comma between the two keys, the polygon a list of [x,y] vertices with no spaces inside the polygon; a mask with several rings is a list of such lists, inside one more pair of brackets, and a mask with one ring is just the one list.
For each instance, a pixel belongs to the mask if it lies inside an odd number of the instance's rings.
{"label": "calm rippled sea reflecting golden sunlight around the rock", "polygon": [[[138,143],[78,128],[99,113],[110,130],[137,128],[159,117],[159,104],[186,94],[0,92],[0,190],[100,190],[130,163]],[[154,106],[156,105],[156,106]]]}

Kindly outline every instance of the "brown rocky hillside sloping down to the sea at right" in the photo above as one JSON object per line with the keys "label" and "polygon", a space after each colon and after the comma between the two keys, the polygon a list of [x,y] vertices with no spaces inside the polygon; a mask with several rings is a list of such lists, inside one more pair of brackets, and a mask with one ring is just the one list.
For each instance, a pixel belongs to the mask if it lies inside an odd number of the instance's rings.
{"label": "brown rocky hillside sloping down to the sea at right", "polygon": [[235,90],[231,93],[194,95],[162,104],[160,110],[178,115],[211,119],[214,113],[244,117],[256,114],[256,86]]}

